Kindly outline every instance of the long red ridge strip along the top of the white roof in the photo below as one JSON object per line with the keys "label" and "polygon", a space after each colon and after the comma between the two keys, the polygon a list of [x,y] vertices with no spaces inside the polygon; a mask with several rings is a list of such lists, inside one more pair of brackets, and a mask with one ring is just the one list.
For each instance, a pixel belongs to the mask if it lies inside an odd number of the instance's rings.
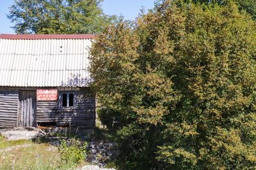
{"label": "long red ridge strip along the top of the white roof", "polygon": [[94,39],[94,34],[1,34],[1,39]]}

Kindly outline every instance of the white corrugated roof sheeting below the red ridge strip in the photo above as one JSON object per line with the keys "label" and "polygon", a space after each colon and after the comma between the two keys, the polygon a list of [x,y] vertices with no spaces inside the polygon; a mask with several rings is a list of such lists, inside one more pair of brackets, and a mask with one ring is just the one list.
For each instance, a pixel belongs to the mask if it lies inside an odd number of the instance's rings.
{"label": "white corrugated roof sheeting below the red ridge strip", "polygon": [[0,86],[86,87],[91,45],[92,39],[2,38]]}

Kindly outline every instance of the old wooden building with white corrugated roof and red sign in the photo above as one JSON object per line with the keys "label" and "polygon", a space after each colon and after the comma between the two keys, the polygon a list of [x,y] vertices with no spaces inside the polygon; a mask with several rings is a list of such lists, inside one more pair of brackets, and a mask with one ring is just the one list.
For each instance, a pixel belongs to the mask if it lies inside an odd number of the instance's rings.
{"label": "old wooden building with white corrugated roof and red sign", "polygon": [[93,35],[0,36],[0,127],[93,129],[88,87]]}

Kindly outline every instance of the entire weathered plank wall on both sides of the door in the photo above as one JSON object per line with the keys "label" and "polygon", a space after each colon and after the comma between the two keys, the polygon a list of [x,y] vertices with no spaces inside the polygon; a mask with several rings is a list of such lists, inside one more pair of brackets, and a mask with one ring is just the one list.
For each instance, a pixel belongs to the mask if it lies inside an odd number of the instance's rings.
{"label": "entire weathered plank wall on both sides of the door", "polygon": [[[0,127],[17,126],[19,90],[36,89],[0,87]],[[76,95],[74,108],[61,108],[60,101],[37,101],[36,123],[56,123],[58,126],[71,125],[92,129],[95,126],[95,96],[89,88],[81,88],[79,91],[74,91],[74,94]]]}

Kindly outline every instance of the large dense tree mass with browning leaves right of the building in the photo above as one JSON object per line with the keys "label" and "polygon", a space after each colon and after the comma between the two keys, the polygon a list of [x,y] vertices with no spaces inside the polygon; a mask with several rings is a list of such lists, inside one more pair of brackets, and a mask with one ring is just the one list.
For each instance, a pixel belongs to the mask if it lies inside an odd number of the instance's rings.
{"label": "large dense tree mass with browning leaves right of the building", "polygon": [[166,0],[92,47],[126,169],[255,169],[256,27],[236,4]]}

